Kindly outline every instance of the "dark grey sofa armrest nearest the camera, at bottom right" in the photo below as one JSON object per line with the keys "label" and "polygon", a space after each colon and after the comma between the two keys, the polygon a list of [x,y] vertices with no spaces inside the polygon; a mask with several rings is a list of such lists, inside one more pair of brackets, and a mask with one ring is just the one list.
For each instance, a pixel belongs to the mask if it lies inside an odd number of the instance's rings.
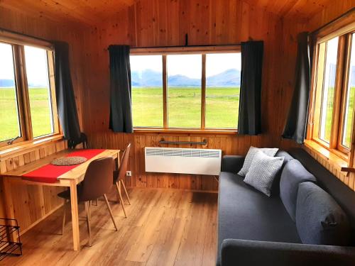
{"label": "dark grey sofa armrest nearest the camera, at bottom right", "polygon": [[225,239],[221,266],[239,265],[354,265],[355,248],[256,240]]}

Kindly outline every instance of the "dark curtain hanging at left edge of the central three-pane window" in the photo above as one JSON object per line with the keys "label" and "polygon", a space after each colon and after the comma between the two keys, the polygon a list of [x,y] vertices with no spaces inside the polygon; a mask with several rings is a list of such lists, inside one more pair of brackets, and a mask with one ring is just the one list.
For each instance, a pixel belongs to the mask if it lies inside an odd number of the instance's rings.
{"label": "dark curtain hanging at left edge of the central three-pane window", "polygon": [[114,132],[133,133],[128,45],[110,45],[110,123]]}

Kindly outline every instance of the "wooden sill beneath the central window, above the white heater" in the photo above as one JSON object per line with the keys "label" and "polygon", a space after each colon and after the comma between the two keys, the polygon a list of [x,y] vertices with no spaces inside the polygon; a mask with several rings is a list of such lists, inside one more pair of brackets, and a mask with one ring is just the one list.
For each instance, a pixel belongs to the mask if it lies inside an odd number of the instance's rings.
{"label": "wooden sill beneath the central window, above the white heater", "polygon": [[238,133],[235,129],[193,129],[193,128],[133,128],[133,133],[197,133],[197,134],[231,134]]}

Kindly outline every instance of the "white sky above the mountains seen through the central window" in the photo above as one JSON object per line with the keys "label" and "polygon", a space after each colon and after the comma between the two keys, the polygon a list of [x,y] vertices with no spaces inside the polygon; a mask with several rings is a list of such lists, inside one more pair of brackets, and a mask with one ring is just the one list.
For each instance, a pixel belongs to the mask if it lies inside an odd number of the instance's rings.
{"label": "white sky above the mountains seen through the central window", "polygon": [[[161,55],[131,55],[131,71],[154,70],[163,72]],[[190,78],[201,77],[202,55],[168,55],[168,76],[182,74]],[[219,74],[225,70],[241,70],[240,53],[207,54],[207,77]]]}

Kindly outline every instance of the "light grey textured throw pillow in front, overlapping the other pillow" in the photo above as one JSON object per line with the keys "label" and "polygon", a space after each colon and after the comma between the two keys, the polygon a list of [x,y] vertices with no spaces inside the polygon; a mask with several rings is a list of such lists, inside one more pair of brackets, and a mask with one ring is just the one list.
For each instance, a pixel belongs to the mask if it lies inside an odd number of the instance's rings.
{"label": "light grey textured throw pillow in front, overlapping the other pillow", "polygon": [[258,151],[251,162],[244,182],[251,187],[258,189],[267,196],[271,196],[271,186],[275,175],[283,166],[284,157],[270,157],[261,151]]}

